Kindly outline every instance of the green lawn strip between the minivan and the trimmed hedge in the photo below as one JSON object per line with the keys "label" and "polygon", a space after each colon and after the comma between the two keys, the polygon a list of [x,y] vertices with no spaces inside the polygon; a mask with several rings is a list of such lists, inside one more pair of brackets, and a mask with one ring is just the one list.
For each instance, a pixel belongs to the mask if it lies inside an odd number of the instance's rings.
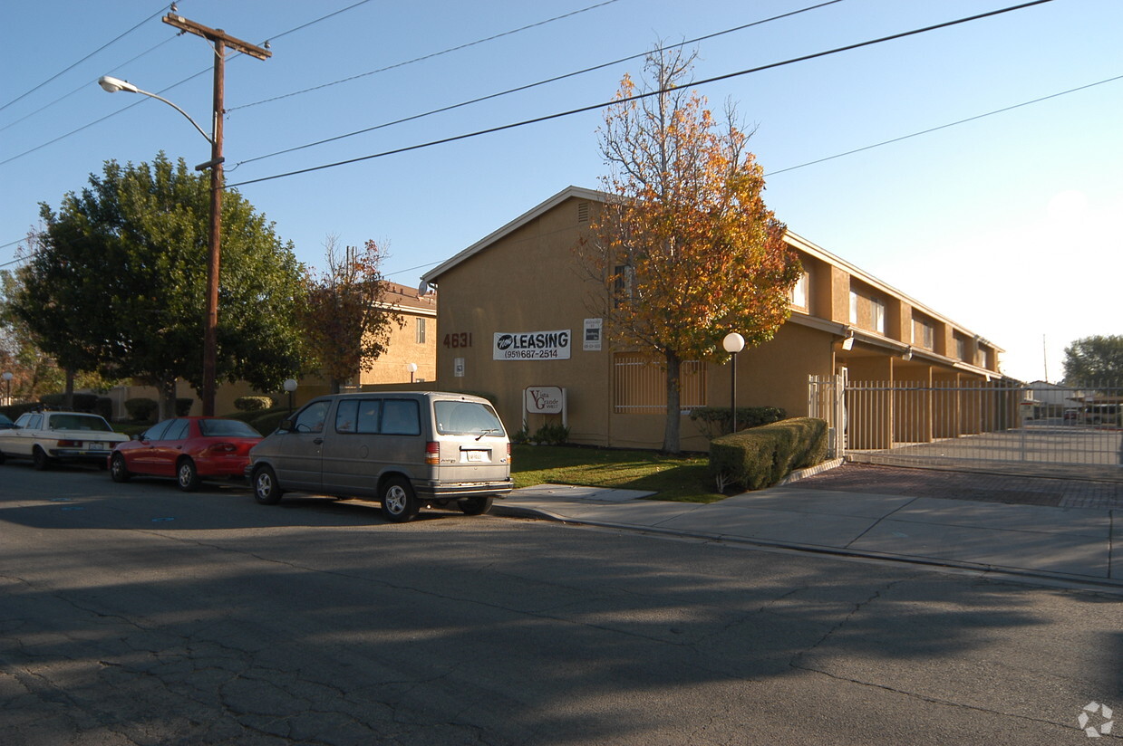
{"label": "green lawn strip between the minivan and the trimmed hedge", "polygon": [[660,455],[651,451],[515,445],[511,476],[515,487],[581,485],[652,491],[651,499],[714,503],[715,491],[705,455]]}

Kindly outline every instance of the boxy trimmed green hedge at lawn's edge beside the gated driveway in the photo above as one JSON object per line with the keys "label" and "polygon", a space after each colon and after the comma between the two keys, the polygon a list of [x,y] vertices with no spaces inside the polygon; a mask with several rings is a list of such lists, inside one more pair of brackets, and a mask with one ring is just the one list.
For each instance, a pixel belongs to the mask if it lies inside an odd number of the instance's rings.
{"label": "boxy trimmed green hedge at lawn's edge beside the gated driveway", "polygon": [[710,473],[719,491],[730,483],[763,489],[825,458],[827,421],[793,417],[711,441]]}

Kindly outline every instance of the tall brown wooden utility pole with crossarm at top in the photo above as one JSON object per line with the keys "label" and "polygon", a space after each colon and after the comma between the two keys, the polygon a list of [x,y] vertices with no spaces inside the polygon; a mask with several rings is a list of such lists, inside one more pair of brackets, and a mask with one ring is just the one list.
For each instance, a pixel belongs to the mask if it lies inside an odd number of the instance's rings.
{"label": "tall brown wooden utility pole with crossarm at top", "polygon": [[210,236],[207,259],[207,319],[203,328],[203,415],[214,415],[216,367],[218,360],[218,275],[221,264],[222,241],[222,114],[225,96],[226,48],[267,59],[273,53],[263,47],[232,37],[220,28],[210,28],[183,16],[170,12],[164,22],[183,33],[201,36],[214,45],[214,123],[211,137],[211,159],[195,166],[197,171],[211,169]]}

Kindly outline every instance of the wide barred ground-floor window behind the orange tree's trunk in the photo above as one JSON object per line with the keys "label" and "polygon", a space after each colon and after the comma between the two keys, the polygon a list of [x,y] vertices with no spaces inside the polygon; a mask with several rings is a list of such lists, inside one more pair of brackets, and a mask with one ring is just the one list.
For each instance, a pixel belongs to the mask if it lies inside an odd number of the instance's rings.
{"label": "wide barred ground-floor window behind the orange tree's trunk", "polygon": [[[613,356],[613,412],[615,414],[665,414],[667,370],[656,358],[640,352]],[[679,404],[683,408],[705,406],[706,367],[686,361],[679,369]]]}

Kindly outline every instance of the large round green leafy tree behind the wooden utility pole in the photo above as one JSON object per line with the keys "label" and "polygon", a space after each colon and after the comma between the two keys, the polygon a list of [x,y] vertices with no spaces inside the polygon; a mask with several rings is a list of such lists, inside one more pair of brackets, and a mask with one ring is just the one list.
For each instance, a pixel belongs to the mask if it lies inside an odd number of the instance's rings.
{"label": "large round green leafy tree behind the wooden utility pole", "polygon": [[[174,413],[175,381],[202,386],[209,179],[162,153],[106,163],[58,211],[16,271],[9,306],[67,370],[136,378]],[[292,245],[236,191],[222,200],[217,374],[270,390],[303,367],[301,267]]]}

